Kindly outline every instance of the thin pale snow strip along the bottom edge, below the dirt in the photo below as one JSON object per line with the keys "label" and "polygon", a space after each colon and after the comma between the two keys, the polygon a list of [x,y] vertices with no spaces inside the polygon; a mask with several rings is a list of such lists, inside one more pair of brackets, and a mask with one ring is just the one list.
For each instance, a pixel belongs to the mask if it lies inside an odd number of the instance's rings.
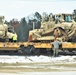
{"label": "thin pale snow strip along the bottom edge, below the dirt", "polygon": [[24,72],[24,73],[0,73],[0,75],[76,75],[76,72]]}

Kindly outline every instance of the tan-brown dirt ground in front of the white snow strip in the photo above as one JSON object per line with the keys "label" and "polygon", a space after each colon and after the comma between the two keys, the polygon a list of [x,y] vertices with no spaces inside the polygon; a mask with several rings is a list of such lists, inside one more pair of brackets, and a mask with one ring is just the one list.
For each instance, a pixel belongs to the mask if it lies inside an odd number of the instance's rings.
{"label": "tan-brown dirt ground in front of the white snow strip", "polygon": [[0,73],[76,71],[76,63],[0,63]]}

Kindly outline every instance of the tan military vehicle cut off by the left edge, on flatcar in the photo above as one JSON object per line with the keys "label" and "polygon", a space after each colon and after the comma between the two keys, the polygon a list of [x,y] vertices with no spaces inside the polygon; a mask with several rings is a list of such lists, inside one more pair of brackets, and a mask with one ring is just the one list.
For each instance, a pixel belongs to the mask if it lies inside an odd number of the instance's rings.
{"label": "tan military vehicle cut off by the left edge, on flatcar", "polygon": [[4,24],[4,16],[0,16],[0,42],[12,40],[14,35],[17,36],[14,30],[7,24]]}

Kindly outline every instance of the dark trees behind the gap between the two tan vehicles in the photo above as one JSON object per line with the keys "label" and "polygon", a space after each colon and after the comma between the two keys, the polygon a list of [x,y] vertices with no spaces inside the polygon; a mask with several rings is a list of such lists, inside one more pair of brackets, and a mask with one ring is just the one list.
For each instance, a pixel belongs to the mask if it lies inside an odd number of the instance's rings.
{"label": "dark trees behind the gap between the two tan vehicles", "polygon": [[28,41],[29,31],[33,29],[33,22],[35,24],[35,29],[39,29],[41,25],[41,15],[35,12],[27,18],[23,17],[20,21],[17,19],[12,19],[10,22],[5,20],[5,24],[12,26],[18,35],[18,41]]}

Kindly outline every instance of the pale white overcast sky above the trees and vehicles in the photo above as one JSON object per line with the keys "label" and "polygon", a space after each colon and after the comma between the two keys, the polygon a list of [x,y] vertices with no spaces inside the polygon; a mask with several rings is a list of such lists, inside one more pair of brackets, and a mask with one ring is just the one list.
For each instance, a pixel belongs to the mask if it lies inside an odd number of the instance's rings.
{"label": "pale white overcast sky above the trees and vehicles", "polygon": [[35,13],[72,13],[76,9],[75,0],[0,0],[0,15],[7,21]]}

